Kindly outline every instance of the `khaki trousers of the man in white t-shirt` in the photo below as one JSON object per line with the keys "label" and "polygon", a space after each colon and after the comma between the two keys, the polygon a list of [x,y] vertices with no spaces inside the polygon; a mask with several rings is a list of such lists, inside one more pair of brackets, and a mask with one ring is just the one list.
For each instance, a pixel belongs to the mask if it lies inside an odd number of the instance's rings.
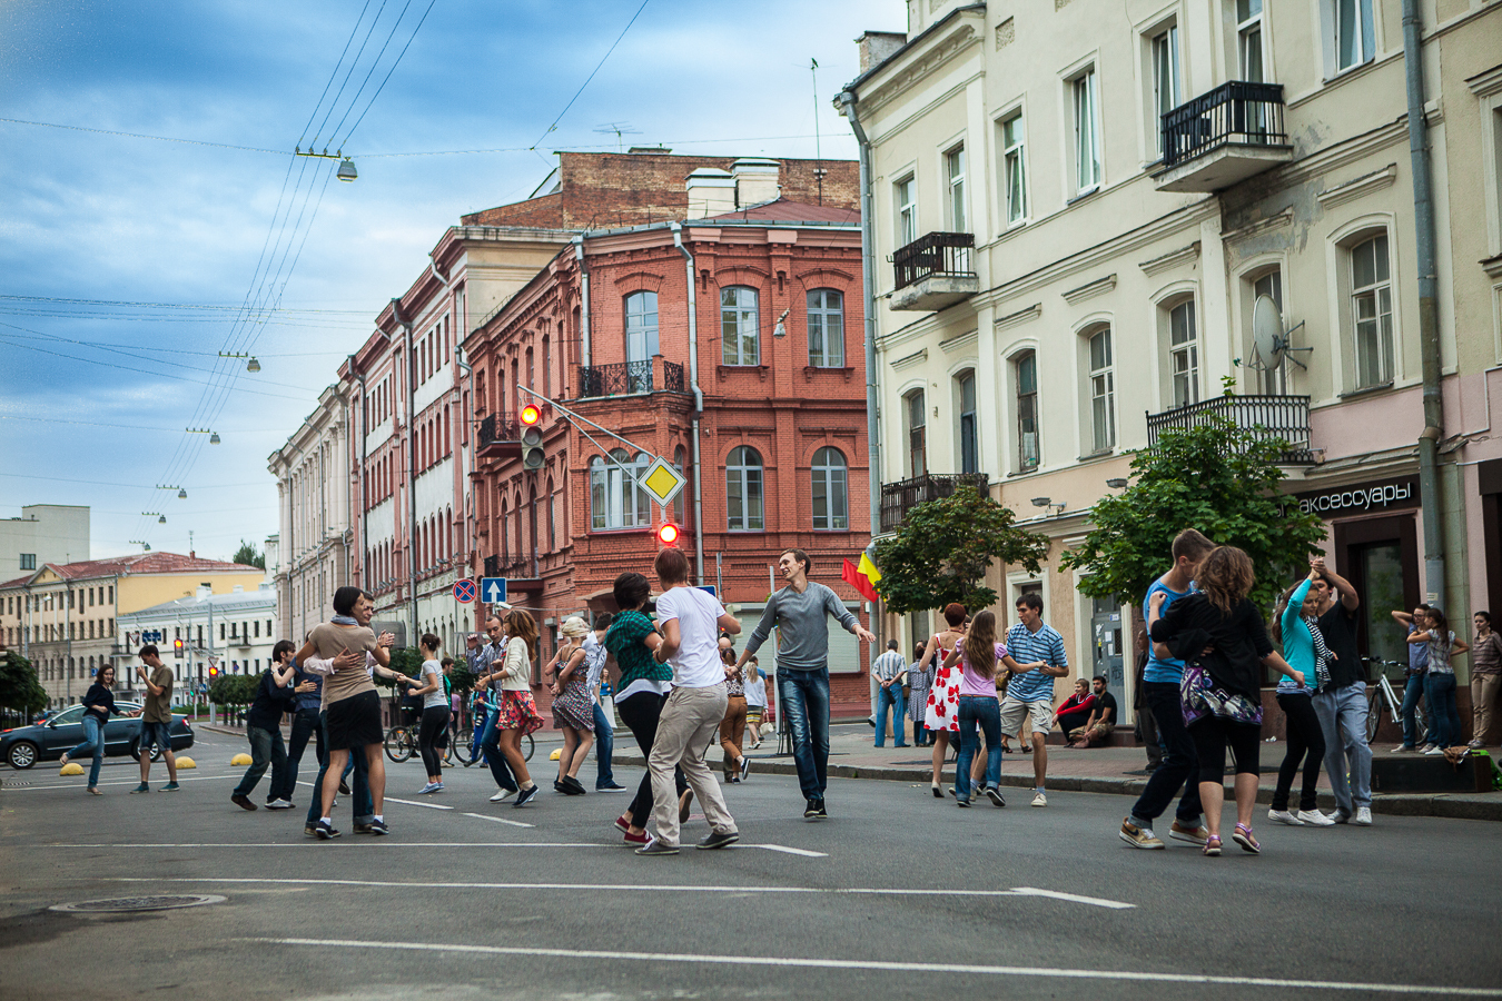
{"label": "khaki trousers of the man in white t-shirt", "polygon": [[656,839],[664,845],[677,845],[677,785],[673,767],[683,768],[688,788],[694,791],[704,819],[715,833],[736,830],[736,818],[730,816],[725,798],[719,792],[715,773],[704,764],[704,752],[719,720],[725,717],[725,686],[707,689],[676,687],[667,696],[662,716],[658,717],[656,740],[647,755],[652,773],[652,813],[656,819]]}

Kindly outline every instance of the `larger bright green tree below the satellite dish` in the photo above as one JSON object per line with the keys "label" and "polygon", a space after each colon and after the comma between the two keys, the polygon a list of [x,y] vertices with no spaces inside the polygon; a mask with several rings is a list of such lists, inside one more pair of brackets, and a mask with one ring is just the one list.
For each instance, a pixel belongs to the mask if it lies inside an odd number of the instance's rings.
{"label": "larger bright green tree below the satellite dish", "polygon": [[1169,569],[1173,537],[1199,528],[1217,545],[1247,551],[1257,569],[1251,599],[1271,608],[1308,573],[1308,557],[1325,537],[1316,515],[1277,492],[1286,450],[1283,440],[1224,419],[1163,432],[1157,449],[1133,456],[1131,486],[1096,501],[1095,528],[1063,555],[1063,566],[1086,572],[1083,594],[1136,603]]}

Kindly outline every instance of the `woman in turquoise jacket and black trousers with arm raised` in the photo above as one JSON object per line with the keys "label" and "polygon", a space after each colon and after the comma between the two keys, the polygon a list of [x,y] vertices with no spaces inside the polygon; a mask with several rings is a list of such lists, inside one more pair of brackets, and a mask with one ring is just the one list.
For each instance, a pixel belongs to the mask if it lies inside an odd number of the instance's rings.
{"label": "woman in turquoise jacket and black trousers with arm raised", "polygon": [[[1283,647],[1283,659],[1304,674],[1302,684],[1289,677],[1278,681],[1278,707],[1287,722],[1289,750],[1278,767],[1278,788],[1272,792],[1268,819],[1290,827],[1329,827],[1335,822],[1320,813],[1314,788],[1319,782],[1319,764],[1325,759],[1325,731],[1314,714],[1313,696],[1329,680],[1326,665],[1334,656],[1319,630],[1319,593],[1314,591],[1317,579],[1319,572],[1310,567],[1310,575],[1284,593],[1272,618],[1272,642]],[[1298,812],[1290,813],[1289,792],[1301,762],[1304,788]]]}

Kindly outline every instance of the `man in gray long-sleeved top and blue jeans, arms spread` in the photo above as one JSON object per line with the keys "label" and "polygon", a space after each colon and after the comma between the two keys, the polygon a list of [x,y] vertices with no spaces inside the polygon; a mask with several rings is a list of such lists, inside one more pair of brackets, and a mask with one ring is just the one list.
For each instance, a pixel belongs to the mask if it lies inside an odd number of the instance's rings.
{"label": "man in gray long-sleeved top and blue jeans, arms spread", "polygon": [[762,621],[751,630],[739,666],[745,666],[772,627],[777,642],[777,698],[793,734],[798,785],[808,803],[804,816],[825,818],[829,770],[829,615],[865,642],[876,636],[861,627],[840,596],[808,579],[813,563],[802,549],[787,549],[777,561],[787,587],[768,599]]}

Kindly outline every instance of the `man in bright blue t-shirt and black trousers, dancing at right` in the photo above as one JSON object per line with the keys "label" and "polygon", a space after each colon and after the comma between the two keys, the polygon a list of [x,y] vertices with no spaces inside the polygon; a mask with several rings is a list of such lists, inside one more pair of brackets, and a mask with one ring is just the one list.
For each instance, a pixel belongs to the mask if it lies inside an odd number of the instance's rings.
{"label": "man in bright blue t-shirt and black trousers, dancing at right", "polygon": [[[1142,600],[1143,621],[1152,623],[1169,609],[1169,605],[1187,596],[1193,590],[1194,573],[1200,561],[1215,548],[1209,539],[1185,528],[1173,539],[1173,569],[1160,576],[1148,588]],[[1158,597],[1158,596],[1163,597]],[[1179,789],[1179,809],[1175,813],[1173,827],[1169,837],[1205,845],[1209,840],[1209,830],[1200,822],[1200,789],[1199,789],[1199,755],[1194,752],[1194,738],[1184,726],[1184,713],[1179,710],[1179,681],[1184,680],[1184,662],[1169,656],[1167,647],[1152,644],[1148,650],[1148,666],[1143,669],[1142,683],[1148,708],[1158,734],[1163,740],[1163,764],[1148,779],[1148,788],[1131,807],[1131,816],[1122,821],[1120,837],[1134,848],[1163,848],[1163,842],[1152,833],[1152,822],[1163,816],[1169,803]]]}

